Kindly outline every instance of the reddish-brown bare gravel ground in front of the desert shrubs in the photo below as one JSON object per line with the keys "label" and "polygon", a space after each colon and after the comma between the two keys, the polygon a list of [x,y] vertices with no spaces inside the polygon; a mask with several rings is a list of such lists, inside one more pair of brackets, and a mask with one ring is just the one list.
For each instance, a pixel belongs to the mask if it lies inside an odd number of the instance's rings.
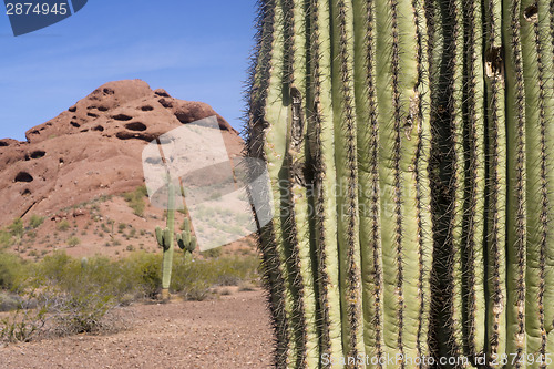
{"label": "reddish-brown bare gravel ground in front of the desert shrubs", "polygon": [[260,290],[125,308],[133,328],[0,348],[1,368],[268,368],[271,330]]}

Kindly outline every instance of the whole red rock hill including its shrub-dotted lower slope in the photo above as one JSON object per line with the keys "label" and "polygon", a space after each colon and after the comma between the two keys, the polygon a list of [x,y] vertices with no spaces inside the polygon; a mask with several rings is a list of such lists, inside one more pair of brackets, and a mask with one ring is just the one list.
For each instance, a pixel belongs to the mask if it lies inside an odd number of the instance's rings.
{"label": "whole red rock hill including its shrub-dotted lower slope", "polygon": [[[74,254],[90,254],[86,248],[101,252],[95,246],[110,243],[117,250],[140,244],[148,248],[155,244],[150,230],[163,224],[163,211],[150,207],[144,197],[146,208],[138,216],[119,195],[144,184],[141,155],[147,142],[212,115],[217,116],[230,156],[239,155],[243,140],[205,103],[174,99],[141,80],[98,88],[29,130],[25,142],[0,140],[0,228],[22,217],[30,235],[19,246],[31,250],[42,245],[44,255],[65,247],[71,237],[80,240],[72,243]],[[30,229],[31,216],[44,218],[38,229]],[[61,229],[63,221],[69,230]]]}

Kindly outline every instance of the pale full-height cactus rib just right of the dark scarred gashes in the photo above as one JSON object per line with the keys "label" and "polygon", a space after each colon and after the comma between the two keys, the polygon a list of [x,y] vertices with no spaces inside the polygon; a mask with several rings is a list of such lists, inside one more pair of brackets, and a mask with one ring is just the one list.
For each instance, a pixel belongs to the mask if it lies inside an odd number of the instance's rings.
{"label": "pale full-height cactus rib just right of the dark scarred gashes", "polygon": [[[329,2],[311,0],[314,114],[308,125],[312,137],[315,215],[319,304],[321,306],[321,355],[342,356],[341,310],[336,218],[335,135],[332,127],[331,40]],[[311,94],[310,94],[311,95]],[[337,366],[338,367],[338,366]]]}

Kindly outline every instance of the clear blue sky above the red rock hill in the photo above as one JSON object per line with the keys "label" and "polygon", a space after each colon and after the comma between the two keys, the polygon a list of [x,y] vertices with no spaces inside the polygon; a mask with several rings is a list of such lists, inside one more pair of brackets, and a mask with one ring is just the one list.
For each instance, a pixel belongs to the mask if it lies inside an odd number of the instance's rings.
{"label": "clear blue sky above the red rock hill", "polygon": [[240,130],[255,0],[89,0],[14,38],[0,6],[0,139],[24,140],[101,84],[141,79],[211,104]]}

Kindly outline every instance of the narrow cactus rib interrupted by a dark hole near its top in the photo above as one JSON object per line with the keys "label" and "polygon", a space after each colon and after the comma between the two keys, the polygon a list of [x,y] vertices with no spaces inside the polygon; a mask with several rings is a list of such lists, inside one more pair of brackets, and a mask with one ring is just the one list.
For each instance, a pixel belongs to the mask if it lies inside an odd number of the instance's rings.
{"label": "narrow cactus rib interrupted by a dark hole near its top", "polygon": [[[485,88],[488,184],[485,192],[485,249],[488,255],[486,353],[497,357],[505,352],[506,340],[506,129],[504,125],[504,71],[500,60],[502,45],[502,4],[484,1]],[[500,365],[499,365],[500,366]]]}

